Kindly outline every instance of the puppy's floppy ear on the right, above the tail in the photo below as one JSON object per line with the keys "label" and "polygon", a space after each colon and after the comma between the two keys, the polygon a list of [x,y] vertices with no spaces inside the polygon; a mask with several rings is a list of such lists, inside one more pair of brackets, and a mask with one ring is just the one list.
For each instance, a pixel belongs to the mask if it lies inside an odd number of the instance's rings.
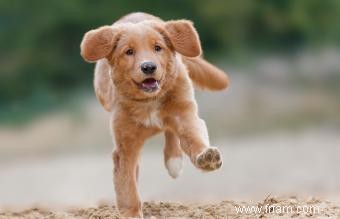
{"label": "puppy's floppy ear on the right, above the tail", "polygon": [[168,21],[165,30],[175,50],[187,57],[201,55],[201,43],[192,22],[187,20]]}

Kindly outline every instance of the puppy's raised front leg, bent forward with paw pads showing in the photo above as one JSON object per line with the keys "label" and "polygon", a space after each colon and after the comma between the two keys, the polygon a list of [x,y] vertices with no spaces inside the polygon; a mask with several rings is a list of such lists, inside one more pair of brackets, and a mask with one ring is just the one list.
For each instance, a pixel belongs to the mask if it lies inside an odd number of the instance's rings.
{"label": "puppy's raised front leg, bent forward with paw pads showing", "polygon": [[183,151],[193,164],[205,171],[212,171],[222,166],[221,153],[209,143],[205,122],[195,113],[183,113],[176,116],[172,123]]}

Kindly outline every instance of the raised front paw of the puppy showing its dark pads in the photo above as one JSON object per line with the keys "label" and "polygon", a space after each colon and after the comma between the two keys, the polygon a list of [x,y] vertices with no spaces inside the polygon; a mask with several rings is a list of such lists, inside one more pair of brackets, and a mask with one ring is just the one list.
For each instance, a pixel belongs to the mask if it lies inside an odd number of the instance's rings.
{"label": "raised front paw of the puppy showing its dark pads", "polygon": [[204,171],[213,171],[222,166],[221,153],[216,147],[209,147],[196,157],[196,167]]}

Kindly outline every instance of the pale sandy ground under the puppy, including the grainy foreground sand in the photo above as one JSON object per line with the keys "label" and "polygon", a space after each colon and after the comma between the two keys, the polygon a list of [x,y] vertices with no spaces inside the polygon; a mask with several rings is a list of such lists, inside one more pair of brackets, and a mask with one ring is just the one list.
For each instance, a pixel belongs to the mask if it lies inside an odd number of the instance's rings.
{"label": "pale sandy ground under the puppy, including the grainy foreground sand", "polygon": [[[216,141],[226,145],[220,147],[224,165],[219,171],[202,173],[186,159],[176,180],[168,176],[162,147],[155,142],[148,143],[141,159],[139,190],[146,218],[340,218],[337,135]],[[119,218],[111,171],[110,151],[3,163],[0,218]],[[235,208],[266,204],[312,205],[319,212],[245,214]]]}

